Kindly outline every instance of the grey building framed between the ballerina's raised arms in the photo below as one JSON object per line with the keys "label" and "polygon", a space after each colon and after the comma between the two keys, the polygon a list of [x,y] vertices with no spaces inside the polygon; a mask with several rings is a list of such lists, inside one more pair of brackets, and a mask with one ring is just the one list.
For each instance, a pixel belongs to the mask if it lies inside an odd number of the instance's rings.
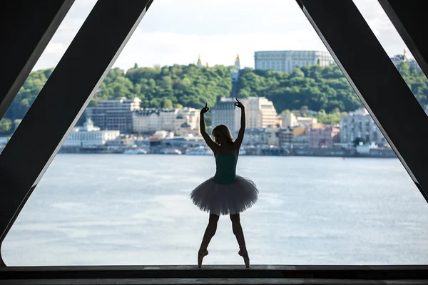
{"label": "grey building framed between the ballerina's raised arms", "polygon": [[238,133],[240,110],[235,106],[235,102],[233,98],[222,97],[218,99],[213,108],[211,108],[211,125],[213,125],[213,128],[217,125],[227,125],[233,135]]}

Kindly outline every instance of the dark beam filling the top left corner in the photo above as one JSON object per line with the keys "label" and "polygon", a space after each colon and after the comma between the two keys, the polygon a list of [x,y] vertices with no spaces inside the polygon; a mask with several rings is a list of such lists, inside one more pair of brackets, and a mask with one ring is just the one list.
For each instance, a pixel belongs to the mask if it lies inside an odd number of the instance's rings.
{"label": "dark beam filling the top left corner", "polygon": [[[7,3],[9,2],[9,3]],[[51,41],[74,0],[13,0],[1,4],[0,119]]]}

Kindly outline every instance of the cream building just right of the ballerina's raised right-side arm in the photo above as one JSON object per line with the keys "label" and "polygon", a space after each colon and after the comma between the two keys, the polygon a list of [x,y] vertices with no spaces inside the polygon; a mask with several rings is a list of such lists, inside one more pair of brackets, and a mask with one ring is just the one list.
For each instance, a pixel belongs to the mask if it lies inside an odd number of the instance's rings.
{"label": "cream building just right of the ballerina's raised right-side arm", "polygon": [[277,128],[277,112],[270,100],[265,97],[250,97],[241,102],[245,106],[247,128]]}

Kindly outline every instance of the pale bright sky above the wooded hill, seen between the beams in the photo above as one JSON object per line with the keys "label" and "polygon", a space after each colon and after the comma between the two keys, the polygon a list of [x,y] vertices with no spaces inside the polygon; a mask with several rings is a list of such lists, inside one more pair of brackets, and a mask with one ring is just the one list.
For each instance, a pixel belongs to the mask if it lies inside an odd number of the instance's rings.
{"label": "pale bright sky above the wooded hill, seen between the beams", "polygon": [[[389,56],[406,47],[377,0],[354,0]],[[34,70],[56,66],[96,0],[76,0]],[[261,5],[263,3],[263,5]],[[154,0],[113,67],[254,67],[255,51],[327,51],[295,0]],[[409,53],[410,54],[410,53]],[[411,55],[410,55],[411,56]]]}

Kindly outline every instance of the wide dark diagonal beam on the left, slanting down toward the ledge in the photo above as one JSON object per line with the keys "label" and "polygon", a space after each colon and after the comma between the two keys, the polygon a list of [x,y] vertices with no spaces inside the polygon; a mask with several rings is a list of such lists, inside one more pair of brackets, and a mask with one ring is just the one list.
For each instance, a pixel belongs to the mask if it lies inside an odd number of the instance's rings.
{"label": "wide dark diagonal beam on the left, slanting down toward the ledge", "polygon": [[152,1],[98,1],[1,152],[0,242]]}

